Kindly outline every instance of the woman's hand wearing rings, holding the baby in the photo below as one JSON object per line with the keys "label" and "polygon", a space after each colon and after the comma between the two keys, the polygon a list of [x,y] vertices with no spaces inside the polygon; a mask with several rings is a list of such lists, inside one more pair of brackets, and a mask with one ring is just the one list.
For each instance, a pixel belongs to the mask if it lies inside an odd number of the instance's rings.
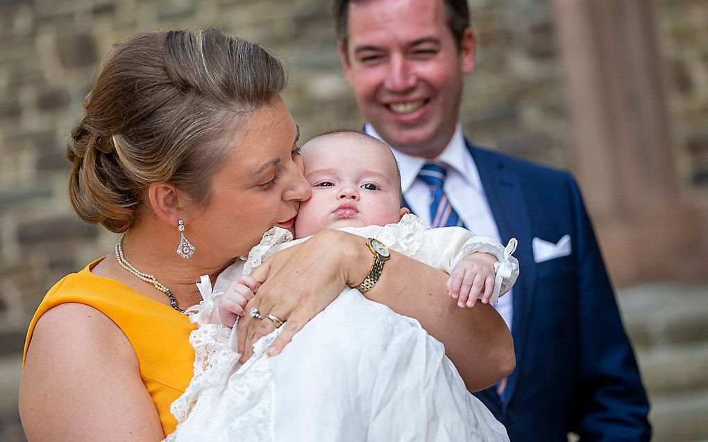
{"label": "woman's hand wearing rings, holding the baby", "polygon": [[[321,231],[291,248],[281,250],[256,268],[251,276],[261,284],[256,296],[246,304],[239,320],[241,362],[253,354],[253,343],[275,330],[274,315],[285,321],[280,336],[268,349],[268,356],[280,353],[309,320],[329,306],[350,281],[351,267],[357,267],[359,253],[365,252],[365,238],[341,231]],[[369,252],[370,255],[370,252]],[[370,263],[359,260],[364,279]],[[358,284],[358,282],[355,282]],[[248,314],[255,307],[263,319]]]}

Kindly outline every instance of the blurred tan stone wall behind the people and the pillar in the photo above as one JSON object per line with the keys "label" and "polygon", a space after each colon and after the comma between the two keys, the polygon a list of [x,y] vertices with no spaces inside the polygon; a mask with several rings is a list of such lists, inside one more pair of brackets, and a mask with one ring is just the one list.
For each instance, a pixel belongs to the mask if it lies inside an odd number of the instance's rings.
{"label": "blurred tan stone wall behind the people and the pillar", "polygon": [[[464,132],[477,144],[574,170],[549,1],[469,4],[479,45],[476,71],[464,93]],[[704,198],[708,6],[700,0],[654,4],[675,156],[667,167],[676,168],[685,194]],[[260,42],[287,61],[292,81],[285,100],[307,139],[362,123],[341,74],[326,5],[329,1],[0,0],[0,363],[16,361],[45,291],[63,274],[110,251],[115,241],[101,228],[76,221],[67,202],[63,159],[67,134],[110,45],[140,30],[207,25]],[[4,403],[0,410],[10,411],[0,414],[0,439],[7,441],[17,426],[14,405]]]}

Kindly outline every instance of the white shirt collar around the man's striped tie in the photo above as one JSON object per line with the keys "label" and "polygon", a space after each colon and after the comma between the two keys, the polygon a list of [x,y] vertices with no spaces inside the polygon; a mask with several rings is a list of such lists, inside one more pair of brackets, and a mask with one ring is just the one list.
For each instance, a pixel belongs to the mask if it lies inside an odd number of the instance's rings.
{"label": "white shirt collar around the man's striped tie", "polygon": [[[369,123],[364,125],[364,132],[383,141],[381,136]],[[426,158],[401,153],[394,148],[391,148],[391,151],[394,153],[394,157],[396,157],[396,161],[398,161],[399,168],[401,169],[401,189],[405,194],[406,191],[411,188],[411,185],[413,185],[413,182],[415,182],[418,177],[418,172],[421,171],[421,168],[428,160],[426,160]],[[447,164],[452,170],[459,173],[462,179],[464,179],[467,184],[474,187],[475,190],[482,189],[479,171],[474,163],[474,158],[472,158],[472,155],[467,150],[467,143],[464,141],[462,127],[459,123],[455,126],[455,133],[452,134],[450,143],[447,144],[442,153],[433,161],[441,161]]]}

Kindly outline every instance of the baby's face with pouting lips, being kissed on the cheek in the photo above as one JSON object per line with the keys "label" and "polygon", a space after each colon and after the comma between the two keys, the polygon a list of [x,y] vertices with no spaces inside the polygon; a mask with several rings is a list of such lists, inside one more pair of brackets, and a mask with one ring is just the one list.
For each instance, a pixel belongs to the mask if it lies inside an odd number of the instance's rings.
{"label": "baby's face with pouting lips, being kissed on the cheek", "polygon": [[297,238],[325,228],[384,226],[406,213],[396,164],[385,146],[351,134],[330,134],[308,141],[302,160],[312,197],[300,204]]}

